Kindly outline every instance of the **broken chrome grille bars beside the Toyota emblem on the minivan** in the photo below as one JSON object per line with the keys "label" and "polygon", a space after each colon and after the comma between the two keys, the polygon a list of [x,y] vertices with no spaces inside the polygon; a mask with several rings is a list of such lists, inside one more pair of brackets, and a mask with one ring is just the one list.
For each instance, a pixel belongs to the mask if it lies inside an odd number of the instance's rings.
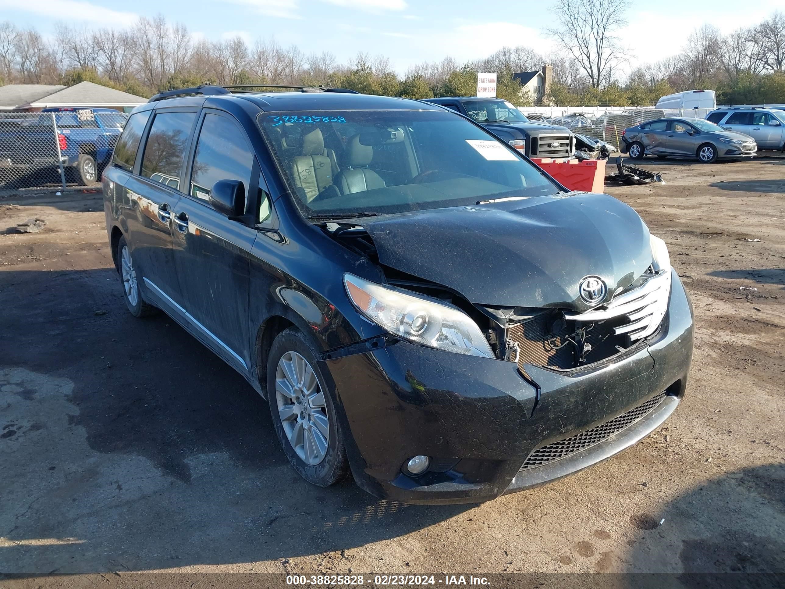
{"label": "broken chrome grille bars beside the Toyota emblem on the minivan", "polygon": [[660,270],[640,287],[619,294],[607,305],[586,313],[564,313],[564,317],[579,322],[595,322],[626,316],[627,322],[614,327],[614,333],[626,334],[634,342],[657,331],[668,307],[669,294],[670,269]]}

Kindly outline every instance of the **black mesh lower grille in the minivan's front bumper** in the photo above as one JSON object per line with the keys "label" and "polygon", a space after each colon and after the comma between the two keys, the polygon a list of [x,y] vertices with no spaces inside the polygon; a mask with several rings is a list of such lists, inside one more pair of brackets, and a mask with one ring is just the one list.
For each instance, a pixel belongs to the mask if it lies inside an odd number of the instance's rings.
{"label": "black mesh lower grille in the minivan's front bumper", "polygon": [[649,412],[652,412],[663,401],[665,396],[666,393],[663,391],[663,393],[659,393],[659,395],[641,403],[636,408],[630,409],[630,411],[605,423],[601,423],[599,426],[594,426],[590,430],[582,431],[574,436],[565,437],[564,440],[553,442],[553,444],[542,446],[542,448],[536,448],[528,455],[524,466],[521,466],[520,470],[542,466],[555,460],[567,458],[569,455],[575,454],[575,452],[581,452],[594,444],[607,440],[626,427],[631,426]]}

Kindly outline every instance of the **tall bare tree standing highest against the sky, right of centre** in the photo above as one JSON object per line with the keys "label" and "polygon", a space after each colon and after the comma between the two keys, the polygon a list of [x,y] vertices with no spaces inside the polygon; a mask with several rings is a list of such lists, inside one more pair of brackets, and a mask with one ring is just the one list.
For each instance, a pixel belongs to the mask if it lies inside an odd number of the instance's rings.
{"label": "tall bare tree standing highest against the sky, right of centre", "polygon": [[559,26],[547,29],[548,34],[580,64],[594,88],[609,82],[626,60],[613,33],[626,24],[628,5],[627,0],[558,0],[553,8]]}

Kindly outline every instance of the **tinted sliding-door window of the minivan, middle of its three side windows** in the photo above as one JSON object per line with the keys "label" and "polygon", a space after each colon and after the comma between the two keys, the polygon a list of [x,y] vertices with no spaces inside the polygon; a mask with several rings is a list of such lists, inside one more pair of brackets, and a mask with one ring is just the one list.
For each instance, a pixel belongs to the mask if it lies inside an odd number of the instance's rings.
{"label": "tinted sliding-door window of the minivan, middle of its three side windows", "polygon": [[144,145],[142,176],[180,188],[188,135],[195,119],[195,112],[159,112],[155,115]]}

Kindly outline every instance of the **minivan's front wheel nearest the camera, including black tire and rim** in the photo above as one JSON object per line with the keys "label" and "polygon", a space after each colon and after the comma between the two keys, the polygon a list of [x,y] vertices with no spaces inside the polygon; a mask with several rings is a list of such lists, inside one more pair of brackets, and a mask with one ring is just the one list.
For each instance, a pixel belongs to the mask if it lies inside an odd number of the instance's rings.
{"label": "minivan's front wheel nearest the camera, including black tire and rim", "polygon": [[344,433],[334,403],[334,383],[316,362],[317,350],[290,327],[275,341],[267,360],[270,415],[283,453],[301,477],[327,487],[349,472]]}

